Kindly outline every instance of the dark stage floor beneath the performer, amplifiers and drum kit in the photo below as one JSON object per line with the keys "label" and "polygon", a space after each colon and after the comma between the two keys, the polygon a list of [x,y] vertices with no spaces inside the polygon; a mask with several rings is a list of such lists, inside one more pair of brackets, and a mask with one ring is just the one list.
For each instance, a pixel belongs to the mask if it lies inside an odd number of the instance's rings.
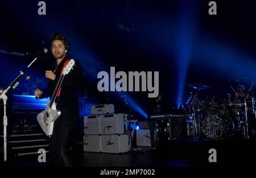
{"label": "dark stage floor beneath the performer, amplifiers and drum kit", "polygon": [[[172,141],[159,145],[156,150],[138,147],[140,150],[123,154],[99,152],[71,153],[74,167],[256,167],[255,140],[250,141]],[[216,163],[209,162],[209,149],[215,149]],[[38,155],[10,158],[1,166],[7,167],[49,167],[39,163]]]}

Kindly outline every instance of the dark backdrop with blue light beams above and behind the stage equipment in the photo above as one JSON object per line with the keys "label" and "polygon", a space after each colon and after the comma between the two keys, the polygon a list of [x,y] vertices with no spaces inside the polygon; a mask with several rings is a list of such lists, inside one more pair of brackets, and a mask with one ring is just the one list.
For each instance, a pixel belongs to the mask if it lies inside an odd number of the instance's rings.
{"label": "dark backdrop with blue light beams above and behind the stage equipment", "polygon": [[[188,84],[211,88],[202,96],[225,98],[229,81],[241,78],[249,88],[255,81],[255,1],[215,1],[217,15],[209,15],[206,0],[195,1],[44,1],[46,15],[38,15],[39,1],[0,2],[0,50],[35,54],[49,50],[52,33],[71,42],[69,57],[80,61],[84,74],[81,96],[115,104],[145,117],[152,99],[147,92],[98,92],[97,73],[110,66],[116,71],[159,71],[159,90],[166,108],[183,102]],[[44,72],[54,61],[50,52],[26,73],[9,94],[32,94],[46,87]],[[0,53],[0,87],[6,88],[30,63],[31,56]],[[254,87],[253,87],[254,90]],[[123,97],[127,96],[127,105]]]}

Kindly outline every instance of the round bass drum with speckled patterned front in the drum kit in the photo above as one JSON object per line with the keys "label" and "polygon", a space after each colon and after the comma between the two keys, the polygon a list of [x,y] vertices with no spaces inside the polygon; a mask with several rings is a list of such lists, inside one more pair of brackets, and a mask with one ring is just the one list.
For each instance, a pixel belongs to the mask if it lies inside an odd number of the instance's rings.
{"label": "round bass drum with speckled patterned front in the drum kit", "polygon": [[208,139],[226,139],[234,134],[235,122],[228,115],[210,114],[201,120],[200,128]]}

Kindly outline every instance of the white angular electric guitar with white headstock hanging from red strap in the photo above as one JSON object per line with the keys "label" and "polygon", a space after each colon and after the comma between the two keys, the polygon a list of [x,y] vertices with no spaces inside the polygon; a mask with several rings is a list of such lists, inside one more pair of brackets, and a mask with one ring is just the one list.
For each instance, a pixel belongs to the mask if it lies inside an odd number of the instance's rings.
{"label": "white angular electric guitar with white headstock hanging from red strap", "polygon": [[71,71],[72,67],[75,65],[74,60],[70,60],[67,65],[64,67],[62,73],[60,74],[60,78],[57,82],[55,90],[52,94],[51,100],[48,102],[46,110],[40,112],[37,116],[39,125],[43,129],[46,135],[52,135],[53,125],[57,118],[60,116],[61,112],[56,109],[55,99],[60,90],[61,83],[66,74]]}

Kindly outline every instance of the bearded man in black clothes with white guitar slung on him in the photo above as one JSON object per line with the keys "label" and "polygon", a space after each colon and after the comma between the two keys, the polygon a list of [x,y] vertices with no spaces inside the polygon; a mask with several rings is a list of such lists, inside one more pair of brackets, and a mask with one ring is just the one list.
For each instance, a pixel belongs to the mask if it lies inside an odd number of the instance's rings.
{"label": "bearded man in black clothes with white guitar slung on him", "polygon": [[[64,63],[68,60],[68,48],[69,41],[65,36],[61,33],[52,35],[51,52],[56,62],[52,70],[46,70],[46,78],[49,79],[46,90],[36,88],[34,92],[36,98],[47,98],[53,94]],[[53,133],[49,143],[49,154],[53,166],[72,166],[72,160],[67,150],[73,128],[79,121],[77,91],[80,89],[81,78],[81,66],[78,61],[75,61],[73,70],[65,75],[61,84],[60,94],[55,100],[56,108],[61,111],[61,115],[54,122]]]}

